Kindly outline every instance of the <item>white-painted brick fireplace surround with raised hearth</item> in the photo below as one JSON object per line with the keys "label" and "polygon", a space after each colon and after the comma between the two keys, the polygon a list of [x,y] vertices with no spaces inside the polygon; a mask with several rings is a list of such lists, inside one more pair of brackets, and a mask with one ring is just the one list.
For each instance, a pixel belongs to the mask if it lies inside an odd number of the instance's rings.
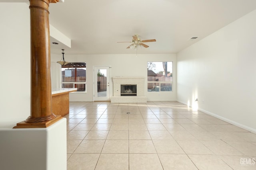
{"label": "white-painted brick fireplace surround with raised hearth", "polygon": [[[113,96],[111,103],[146,103],[147,98],[144,96],[144,77],[113,77]],[[121,85],[136,85],[136,96],[121,96]]]}

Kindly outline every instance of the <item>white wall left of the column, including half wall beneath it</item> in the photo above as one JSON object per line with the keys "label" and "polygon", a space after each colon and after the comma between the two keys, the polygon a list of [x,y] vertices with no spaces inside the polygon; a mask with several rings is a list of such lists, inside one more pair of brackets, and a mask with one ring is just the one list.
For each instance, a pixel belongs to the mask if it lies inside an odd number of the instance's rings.
{"label": "white wall left of the column, including half wall beneath it", "polygon": [[0,3],[0,169],[66,169],[66,119],[12,129],[30,115],[30,10]]}

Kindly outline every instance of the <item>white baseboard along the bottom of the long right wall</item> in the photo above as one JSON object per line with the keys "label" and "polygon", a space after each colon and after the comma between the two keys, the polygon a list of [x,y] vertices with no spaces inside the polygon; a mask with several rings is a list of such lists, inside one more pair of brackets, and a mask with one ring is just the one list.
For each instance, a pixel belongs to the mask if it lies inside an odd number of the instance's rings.
{"label": "white baseboard along the bottom of the long right wall", "polygon": [[[179,103],[182,103],[182,104],[184,104],[184,105],[187,105],[185,102],[182,102],[182,101],[180,101],[180,100],[176,100],[176,102],[179,102]],[[191,107],[191,106],[189,106],[189,107]],[[204,109],[198,108],[198,110],[199,110],[199,111],[202,111],[202,112],[204,112],[204,113],[206,113],[206,114],[208,114],[208,115],[211,115],[211,116],[213,116],[213,117],[216,117],[216,118],[218,118],[218,119],[220,119],[220,120],[226,121],[226,122],[228,122],[228,123],[230,123],[230,124],[232,124],[232,125],[235,125],[235,126],[237,126],[237,127],[241,127],[242,129],[245,129],[245,130],[250,131],[250,132],[252,132],[252,133],[256,133],[256,129],[253,129],[253,128],[248,127],[248,126],[246,126],[246,125],[242,125],[241,123],[238,123],[238,122],[236,122],[236,121],[232,121],[232,120],[230,120],[230,119],[227,119],[227,118],[225,118],[225,117],[222,117],[222,116],[220,116],[220,115],[217,115],[217,114],[215,114],[215,113],[212,113],[212,112],[207,111],[207,110],[204,110]]]}

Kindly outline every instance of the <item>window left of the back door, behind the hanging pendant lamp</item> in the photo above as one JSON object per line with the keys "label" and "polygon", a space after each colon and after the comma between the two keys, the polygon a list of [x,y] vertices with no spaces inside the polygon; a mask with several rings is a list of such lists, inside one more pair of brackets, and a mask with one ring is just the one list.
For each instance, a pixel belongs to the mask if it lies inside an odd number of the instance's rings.
{"label": "window left of the back door, behind the hanging pendant lamp", "polygon": [[68,63],[61,68],[62,88],[86,92],[86,63]]}

